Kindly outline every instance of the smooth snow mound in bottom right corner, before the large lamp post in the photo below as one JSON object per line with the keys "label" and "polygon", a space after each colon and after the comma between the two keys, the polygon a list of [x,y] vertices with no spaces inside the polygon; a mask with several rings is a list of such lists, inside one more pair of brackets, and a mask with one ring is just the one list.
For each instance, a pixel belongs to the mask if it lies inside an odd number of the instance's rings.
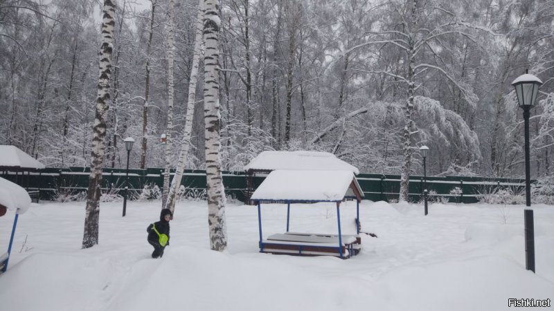
{"label": "smooth snow mound in bottom right corner, before the large lamp post", "polygon": [[[550,281],[502,256],[402,267],[384,274],[381,281],[384,294],[402,310],[508,310],[510,298],[547,299],[554,290]],[[497,288],[503,290],[493,290]],[[458,293],[455,301],[452,292]]]}

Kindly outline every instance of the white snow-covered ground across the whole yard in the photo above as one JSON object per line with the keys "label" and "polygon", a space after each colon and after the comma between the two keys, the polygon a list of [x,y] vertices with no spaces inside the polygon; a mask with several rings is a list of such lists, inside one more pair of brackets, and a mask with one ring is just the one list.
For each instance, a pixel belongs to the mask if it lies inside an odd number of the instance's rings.
{"label": "white snow-covered ground across the whole yard", "polygon": [[[150,258],[146,227],[161,203],[100,205],[100,244],[80,249],[84,202],[31,205],[19,217],[0,310],[530,310],[554,300],[554,207],[535,205],[537,274],[525,269],[524,207],[364,201],[363,250],[348,260],[258,252],[256,207],[229,204],[229,248],[208,246],[206,202],[179,202],[170,247]],[[0,253],[14,212],[0,218]],[[355,204],[341,205],[343,233]],[[262,205],[264,236],[285,232],[286,205]],[[292,205],[293,232],[336,233],[334,204]],[[554,310],[533,308],[533,310]]]}

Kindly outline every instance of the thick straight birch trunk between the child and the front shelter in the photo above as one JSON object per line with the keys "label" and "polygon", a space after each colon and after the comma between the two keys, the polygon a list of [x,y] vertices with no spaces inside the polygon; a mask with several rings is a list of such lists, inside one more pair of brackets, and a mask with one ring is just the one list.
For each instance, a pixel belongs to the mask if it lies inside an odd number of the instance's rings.
{"label": "thick straight birch trunk between the child and the front shelter", "polygon": [[204,126],[206,133],[206,182],[210,247],[227,248],[225,192],[220,155],[220,88],[219,88],[219,0],[205,0],[204,12]]}

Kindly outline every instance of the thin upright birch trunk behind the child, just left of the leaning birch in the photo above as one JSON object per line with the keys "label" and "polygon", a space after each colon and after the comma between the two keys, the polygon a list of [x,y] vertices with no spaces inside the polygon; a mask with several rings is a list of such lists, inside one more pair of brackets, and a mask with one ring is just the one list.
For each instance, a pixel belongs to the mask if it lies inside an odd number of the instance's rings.
{"label": "thin upright birch trunk behind the child, just left of the leaning birch", "polygon": [[168,127],[166,129],[166,170],[163,172],[163,189],[161,191],[161,207],[166,206],[169,192],[170,179],[170,154],[171,134],[173,132],[173,60],[175,50],[173,49],[173,37],[175,35],[175,0],[169,1],[169,30],[168,30]]}

